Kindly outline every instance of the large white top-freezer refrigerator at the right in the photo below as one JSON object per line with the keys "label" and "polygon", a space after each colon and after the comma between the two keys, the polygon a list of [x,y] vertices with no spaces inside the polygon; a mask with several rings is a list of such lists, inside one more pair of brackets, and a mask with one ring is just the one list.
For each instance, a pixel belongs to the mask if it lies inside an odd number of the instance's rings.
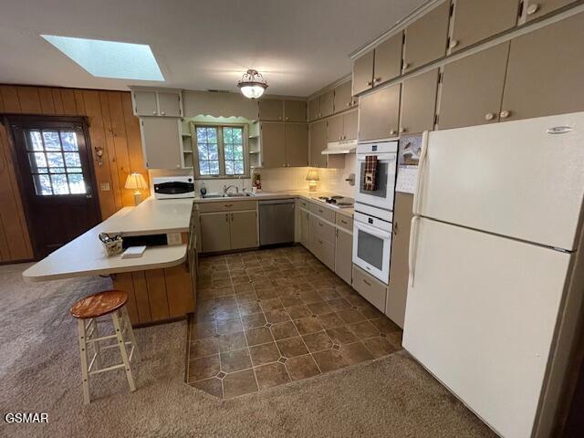
{"label": "large white top-freezer refrigerator at the right", "polygon": [[546,436],[581,299],[584,113],[423,142],[403,346],[496,433]]}

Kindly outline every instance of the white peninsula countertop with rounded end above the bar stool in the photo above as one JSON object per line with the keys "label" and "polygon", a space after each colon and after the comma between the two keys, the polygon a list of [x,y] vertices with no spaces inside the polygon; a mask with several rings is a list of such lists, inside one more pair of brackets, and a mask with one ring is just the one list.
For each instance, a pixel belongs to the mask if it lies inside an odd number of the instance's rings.
{"label": "white peninsula countertop with rounded end above the bar stool", "polygon": [[180,265],[186,260],[187,245],[151,246],[140,258],[121,258],[121,255],[108,257],[98,236],[104,232],[186,232],[192,205],[193,199],[156,201],[148,198],[137,207],[122,208],[109,219],[26,269],[23,276],[28,281],[36,282]]}

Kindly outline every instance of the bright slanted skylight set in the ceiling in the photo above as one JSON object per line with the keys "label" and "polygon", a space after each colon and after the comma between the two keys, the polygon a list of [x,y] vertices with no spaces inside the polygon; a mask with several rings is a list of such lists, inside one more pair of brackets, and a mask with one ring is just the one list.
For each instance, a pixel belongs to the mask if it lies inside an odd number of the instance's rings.
{"label": "bright slanted skylight set in the ceiling", "polygon": [[41,36],[95,77],[164,80],[150,46],[70,36]]}

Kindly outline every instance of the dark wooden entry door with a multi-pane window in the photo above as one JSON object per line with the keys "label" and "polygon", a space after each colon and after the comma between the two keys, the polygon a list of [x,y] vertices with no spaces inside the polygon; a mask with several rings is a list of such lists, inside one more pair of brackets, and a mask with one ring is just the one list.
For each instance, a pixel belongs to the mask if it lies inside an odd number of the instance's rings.
{"label": "dark wooden entry door with a multi-pane window", "polygon": [[35,258],[43,258],[99,224],[85,119],[7,118]]}

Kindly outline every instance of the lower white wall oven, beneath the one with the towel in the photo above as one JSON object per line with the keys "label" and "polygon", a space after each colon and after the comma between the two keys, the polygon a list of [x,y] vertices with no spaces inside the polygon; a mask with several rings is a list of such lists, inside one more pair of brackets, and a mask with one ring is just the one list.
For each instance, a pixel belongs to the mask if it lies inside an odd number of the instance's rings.
{"label": "lower white wall oven, beneath the one with the towel", "polygon": [[[353,220],[353,263],[371,276],[388,284],[390,281],[391,222],[363,214],[355,205]],[[391,212],[383,212],[391,214]],[[381,308],[385,311],[385,308]]]}

